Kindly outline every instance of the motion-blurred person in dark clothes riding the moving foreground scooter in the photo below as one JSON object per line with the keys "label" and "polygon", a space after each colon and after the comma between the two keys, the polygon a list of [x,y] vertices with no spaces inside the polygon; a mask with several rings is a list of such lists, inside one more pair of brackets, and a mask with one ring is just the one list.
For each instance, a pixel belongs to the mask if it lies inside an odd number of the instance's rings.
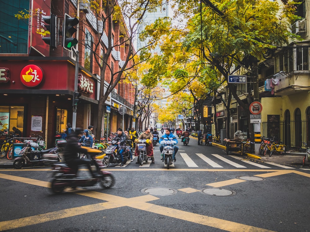
{"label": "motion-blurred person in dark clothes riding the moving foreground scooter", "polygon": [[94,178],[100,178],[102,177],[101,174],[94,173],[91,169],[91,165],[95,164],[95,160],[90,160],[90,159],[80,159],[78,157],[78,153],[87,153],[87,149],[82,148],[78,144],[78,136],[83,133],[82,128],[76,128],[75,132],[70,133],[67,136],[67,143],[64,147],[63,150],[63,156],[65,162],[68,164],[69,168],[73,169],[74,172],[77,174],[78,173],[78,165],[87,165],[87,168],[91,172],[92,176]]}

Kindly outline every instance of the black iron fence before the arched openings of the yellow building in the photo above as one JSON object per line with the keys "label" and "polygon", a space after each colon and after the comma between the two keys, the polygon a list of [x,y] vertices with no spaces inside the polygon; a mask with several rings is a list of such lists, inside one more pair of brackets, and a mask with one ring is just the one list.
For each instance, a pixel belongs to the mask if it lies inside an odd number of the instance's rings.
{"label": "black iron fence before the arched openings of the yellow building", "polygon": [[307,120],[262,122],[261,135],[283,142],[292,148],[305,148],[304,143],[310,140],[310,127]]}

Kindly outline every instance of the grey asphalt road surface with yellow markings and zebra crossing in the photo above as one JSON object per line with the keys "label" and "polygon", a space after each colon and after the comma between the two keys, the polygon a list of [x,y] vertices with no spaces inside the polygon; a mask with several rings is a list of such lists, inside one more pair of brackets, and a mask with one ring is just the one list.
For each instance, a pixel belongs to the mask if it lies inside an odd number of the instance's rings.
{"label": "grey asphalt road surface with yellow markings and zebra crossing", "polygon": [[196,144],[169,170],[159,146],[155,164],[110,165],[110,189],[54,195],[48,167],[0,170],[0,231],[309,231],[309,168]]}

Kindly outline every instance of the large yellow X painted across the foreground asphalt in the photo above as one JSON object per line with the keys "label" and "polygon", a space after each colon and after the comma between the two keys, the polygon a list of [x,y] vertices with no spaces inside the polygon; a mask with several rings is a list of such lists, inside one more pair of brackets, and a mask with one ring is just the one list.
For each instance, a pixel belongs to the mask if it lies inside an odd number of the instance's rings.
{"label": "large yellow X painted across the foreground asphalt", "polygon": [[[0,178],[9,178],[8,175],[0,174]],[[19,178],[19,180],[17,180]],[[26,181],[25,183],[39,183],[39,186],[42,186],[42,182],[36,182],[36,180],[29,178],[9,178],[14,179],[16,181]],[[28,180],[27,180],[28,179]],[[47,183],[45,183],[47,184]],[[147,212],[157,213],[160,215],[178,218],[184,221],[190,221],[197,224],[210,226],[219,228],[226,231],[231,232],[239,232],[239,231],[255,231],[255,232],[272,232],[271,230],[266,230],[258,227],[248,226],[244,224],[240,224],[237,222],[227,221],[224,219],[219,219],[215,217],[209,217],[206,215],[190,213],[186,211],[182,211],[179,209],[168,208],[164,206],[159,206],[156,204],[147,203],[146,201],[157,200],[159,198],[152,195],[143,195],[133,198],[124,198],[120,196],[110,195],[106,193],[100,193],[95,191],[83,191],[77,192],[76,194],[93,197],[101,200],[110,200],[104,203],[85,205],[81,207],[74,207],[69,209],[63,209],[59,211],[54,211],[50,213],[39,214],[30,217],[24,217],[19,219],[13,219],[9,221],[1,221],[0,222],[0,231],[16,229],[24,226],[31,226],[47,221],[54,221],[66,217],[73,217],[77,215],[82,215],[85,213],[93,213],[106,209],[119,208],[123,206],[128,206],[131,208],[141,209]]]}

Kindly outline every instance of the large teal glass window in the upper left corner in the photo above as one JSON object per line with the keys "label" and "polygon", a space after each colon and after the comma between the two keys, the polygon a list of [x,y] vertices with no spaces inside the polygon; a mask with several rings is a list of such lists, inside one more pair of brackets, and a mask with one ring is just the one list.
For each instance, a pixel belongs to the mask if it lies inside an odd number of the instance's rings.
{"label": "large teal glass window in the upper left corner", "polygon": [[0,53],[28,53],[28,20],[17,19],[19,11],[28,13],[29,0],[0,0]]}

